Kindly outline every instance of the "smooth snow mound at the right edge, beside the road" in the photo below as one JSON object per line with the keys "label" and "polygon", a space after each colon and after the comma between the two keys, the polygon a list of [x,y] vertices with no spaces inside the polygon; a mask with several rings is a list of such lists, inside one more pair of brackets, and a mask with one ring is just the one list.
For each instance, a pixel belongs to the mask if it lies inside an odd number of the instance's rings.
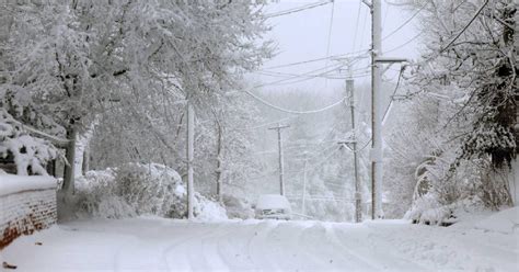
{"label": "smooth snow mound at the right edge, beside the road", "polygon": [[511,207],[494,215],[475,225],[477,229],[512,234],[519,230],[519,207]]}

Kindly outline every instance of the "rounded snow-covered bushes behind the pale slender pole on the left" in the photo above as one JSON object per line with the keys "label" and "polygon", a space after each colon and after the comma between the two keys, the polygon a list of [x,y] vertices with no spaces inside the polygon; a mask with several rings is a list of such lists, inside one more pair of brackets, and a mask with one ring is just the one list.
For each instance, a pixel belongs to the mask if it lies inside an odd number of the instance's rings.
{"label": "rounded snow-covered bushes behind the pale slender pole on the left", "polygon": [[[158,163],[127,163],[117,169],[89,171],[77,181],[77,216],[105,218],[157,215],[186,217],[186,189],[178,173]],[[195,193],[195,217],[227,218],[218,203]]]}

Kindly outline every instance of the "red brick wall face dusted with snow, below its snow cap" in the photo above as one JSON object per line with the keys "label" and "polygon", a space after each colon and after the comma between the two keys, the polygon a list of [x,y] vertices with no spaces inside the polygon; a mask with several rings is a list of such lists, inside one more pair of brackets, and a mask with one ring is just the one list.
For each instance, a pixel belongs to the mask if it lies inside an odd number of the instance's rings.
{"label": "red brick wall face dusted with snow, below its snow cap", "polygon": [[0,249],[21,235],[48,228],[56,223],[56,188],[0,192]]}

